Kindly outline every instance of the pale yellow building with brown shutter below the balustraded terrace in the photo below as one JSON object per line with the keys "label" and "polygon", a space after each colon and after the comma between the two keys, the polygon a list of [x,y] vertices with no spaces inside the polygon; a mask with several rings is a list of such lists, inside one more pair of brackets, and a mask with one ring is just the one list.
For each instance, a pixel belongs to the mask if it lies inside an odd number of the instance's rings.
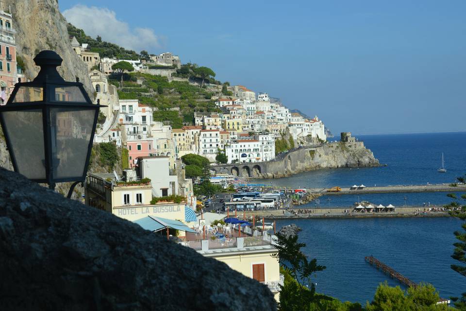
{"label": "pale yellow building with brown shutter below the balustraded terrace", "polygon": [[274,236],[197,240],[180,242],[194,248],[205,257],[224,262],[233,270],[266,285],[279,301],[280,286],[284,277],[280,274],[280,263],[271,255],[278,254],[273,247]]}

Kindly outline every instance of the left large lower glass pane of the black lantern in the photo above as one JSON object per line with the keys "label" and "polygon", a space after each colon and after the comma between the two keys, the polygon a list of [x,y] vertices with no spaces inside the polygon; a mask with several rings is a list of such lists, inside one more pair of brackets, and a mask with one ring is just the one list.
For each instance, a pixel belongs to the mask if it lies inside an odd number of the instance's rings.
{"label": "left large lower glass pane of the black lantern", "polygon": [[45,179],[42,110],[5,111],[2,115],[18,173],[29,179]]}

